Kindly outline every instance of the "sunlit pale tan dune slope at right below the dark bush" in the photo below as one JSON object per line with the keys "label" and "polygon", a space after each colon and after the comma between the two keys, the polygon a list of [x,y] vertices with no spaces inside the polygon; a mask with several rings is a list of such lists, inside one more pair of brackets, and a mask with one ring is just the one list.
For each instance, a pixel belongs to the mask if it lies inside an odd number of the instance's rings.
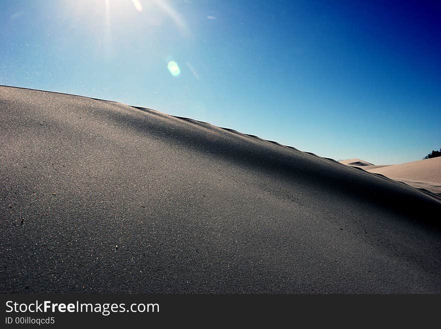
{"label": "sunlit pale tan dune slope at right below the dark bush", "polygon": [[441,194],[441,157],[366,170]]}

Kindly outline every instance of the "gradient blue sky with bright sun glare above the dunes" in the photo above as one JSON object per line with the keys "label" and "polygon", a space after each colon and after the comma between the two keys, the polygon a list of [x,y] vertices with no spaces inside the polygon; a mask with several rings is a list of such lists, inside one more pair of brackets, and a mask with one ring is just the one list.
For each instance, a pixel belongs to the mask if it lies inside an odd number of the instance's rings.
{"label": "gradient blue sky with bright sun glare above the dunes", "polygon": [[402,163],[441,147],[440,20],[441,2],[0,0],[0,84]]}

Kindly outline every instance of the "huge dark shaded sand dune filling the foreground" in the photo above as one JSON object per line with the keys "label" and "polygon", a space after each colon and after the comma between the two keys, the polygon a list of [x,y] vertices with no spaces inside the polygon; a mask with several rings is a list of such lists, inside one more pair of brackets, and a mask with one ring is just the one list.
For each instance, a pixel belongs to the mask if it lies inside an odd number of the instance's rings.
{"label": "huge dark shaded sand dune filling the foreground", "polygon": [[230,129],[0,87],[1,292],[441,292],[441,203]]}

